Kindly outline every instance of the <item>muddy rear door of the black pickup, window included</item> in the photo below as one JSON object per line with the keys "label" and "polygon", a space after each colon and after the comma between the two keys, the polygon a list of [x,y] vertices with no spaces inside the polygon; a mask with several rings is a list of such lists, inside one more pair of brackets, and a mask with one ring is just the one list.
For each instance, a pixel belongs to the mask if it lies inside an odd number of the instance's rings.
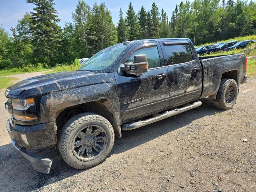
{"label": "muddy rear door of the black pickup, window included", "polygon": [[199,99],[202,92],[202,68],[192,44],[187,41],[160,42],[168,70],[170,106]]}

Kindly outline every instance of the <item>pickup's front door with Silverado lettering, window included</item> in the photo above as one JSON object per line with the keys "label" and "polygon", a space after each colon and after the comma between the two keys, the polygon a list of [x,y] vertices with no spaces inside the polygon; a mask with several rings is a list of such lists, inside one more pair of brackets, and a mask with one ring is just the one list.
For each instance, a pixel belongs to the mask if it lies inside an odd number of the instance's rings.
{"label": "pickup's front door with Silverado lettering, window included", "polygon": [[164,66],[159,42],[148,41],[134,45],[122,64],[133,62],[134,55],[137,54],[147,55],[148,72],[115,73],[123,121],[145,116],[169,106],[168,71]]}

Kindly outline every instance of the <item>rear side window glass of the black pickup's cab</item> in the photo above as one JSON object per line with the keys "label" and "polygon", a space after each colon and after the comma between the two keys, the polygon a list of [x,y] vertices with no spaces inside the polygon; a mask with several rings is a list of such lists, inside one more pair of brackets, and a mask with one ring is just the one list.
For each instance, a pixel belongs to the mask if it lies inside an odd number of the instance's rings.
{"label": "rear side window glass of the black pickup's cab", "polygon": [[184,45],[168,45],[164,46],[168,65],[186,63],[193,60],[190,46],[188,44]]}

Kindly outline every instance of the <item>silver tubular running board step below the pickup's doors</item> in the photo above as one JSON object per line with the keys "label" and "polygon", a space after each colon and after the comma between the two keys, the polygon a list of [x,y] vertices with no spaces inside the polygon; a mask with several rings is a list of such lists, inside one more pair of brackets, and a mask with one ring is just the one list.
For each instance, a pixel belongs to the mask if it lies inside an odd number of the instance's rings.
{"label": "silver tubular running board step below the pickup's doors", "polygon": [[123,124],[121,127],[122,127],[122,130],[136,129],[136,128],[139,128],[139,127],[142,127],[142,126],[145,126],[145,125],[148,125],[148,124],[160,121],[162,119],[168,118],[170,116],[174,116],[174,115],[182,113],[184,111],[188,111],[190,109],[199,107],[201,104],[202,104],[201,101],[196,101],[196,102],[194,102],[192,104],[186,104],[186,106],[184,106],[182,108],[174,108],[171,111],[166,111],[163,114],[159,114],[157,116],[154,116],[154,117],[146,119],[146,120],[140,120],[140,121],[133,122],[133,123]]}

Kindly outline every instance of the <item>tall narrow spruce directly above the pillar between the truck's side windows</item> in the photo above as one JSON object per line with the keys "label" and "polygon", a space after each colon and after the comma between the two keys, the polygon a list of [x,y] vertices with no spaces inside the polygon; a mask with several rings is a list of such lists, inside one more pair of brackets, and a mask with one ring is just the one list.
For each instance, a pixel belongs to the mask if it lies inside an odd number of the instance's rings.
{"label": "tall narrow spruce directly above the pillar between the truck's side windows", "polygon": [[153,2],[152,6],[151,6],[151,16],[152,16],[152,22],[153,22],[153,26],[152,26],[152,32],[151,32],[151,36],[152,38],[159,38],[159,10],[158,7],[156,6],[156,3]]}

